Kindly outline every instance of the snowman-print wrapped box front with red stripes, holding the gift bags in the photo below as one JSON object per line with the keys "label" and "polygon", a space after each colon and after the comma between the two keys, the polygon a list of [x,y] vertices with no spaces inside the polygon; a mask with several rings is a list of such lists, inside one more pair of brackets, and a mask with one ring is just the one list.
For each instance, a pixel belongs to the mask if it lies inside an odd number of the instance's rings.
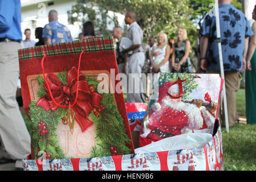
{"label": "snowman-print wrapped box front with red stripes, holding the gift bags", "polygon": [[224,171],[218,120],[214,137],[202,148],[81,159],[23,159],[24,171]]}

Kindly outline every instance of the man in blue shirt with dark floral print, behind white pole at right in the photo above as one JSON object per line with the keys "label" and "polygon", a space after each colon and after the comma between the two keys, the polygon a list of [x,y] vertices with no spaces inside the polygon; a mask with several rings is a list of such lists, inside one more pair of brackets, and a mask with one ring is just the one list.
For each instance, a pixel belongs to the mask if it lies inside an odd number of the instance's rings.
{"label": "man in blue shirt with dark floral print, behind white pole at right", "polygon": [[[246,53],[251,30],[246,16],[231,5],[232,0],[220,0],[221,48],[225,73],[226,98],[228,101],[229,126],[236,121],[236,91],[240,89],[240,72],[246,68]],[[216,18],[207,15],[201,26],[201,69],[208,73],[220,73]],[[224,115],[221,115],[224,120]],[[222,119],[223,118],[223,119]]]}

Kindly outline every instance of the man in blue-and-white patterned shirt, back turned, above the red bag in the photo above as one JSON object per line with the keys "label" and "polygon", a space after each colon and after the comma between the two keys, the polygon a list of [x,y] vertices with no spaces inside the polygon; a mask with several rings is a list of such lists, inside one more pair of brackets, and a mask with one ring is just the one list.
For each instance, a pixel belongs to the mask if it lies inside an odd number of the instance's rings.
{"label": "man in blue-and-white patterned shirt, back turned, above the red bag", "polygon": [[72,41],[71,32],[68,27],[58,22],[58,13],[56,10],[49,11],[49,23],[43,28],[44,44],[56,44]]}

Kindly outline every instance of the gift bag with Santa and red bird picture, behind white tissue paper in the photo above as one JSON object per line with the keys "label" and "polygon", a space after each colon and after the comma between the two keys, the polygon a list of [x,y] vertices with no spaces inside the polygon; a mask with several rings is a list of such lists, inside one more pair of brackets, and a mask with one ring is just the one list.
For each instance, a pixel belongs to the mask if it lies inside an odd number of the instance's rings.
{"label": "gift bag with Santa and red bird picture, behind white tissue paper", "polygon": [[185,133],[210,133],[222,78],[217,74],[160,73],[141,127],[139,147]]}

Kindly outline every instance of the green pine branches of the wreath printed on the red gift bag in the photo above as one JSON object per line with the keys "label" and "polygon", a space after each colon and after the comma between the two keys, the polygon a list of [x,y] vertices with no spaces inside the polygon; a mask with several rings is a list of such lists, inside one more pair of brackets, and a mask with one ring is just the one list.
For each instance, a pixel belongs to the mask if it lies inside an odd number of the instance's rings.
{"label": "green pine branches of the wreath printed on the red gift bag", "polygon": [[[67,84],[67,71],[59,72],[56,74],[57,78],[63,83]],[[93,84],[97,88],[98,82],[95,76],[86,76],[88,84]],[[39,97],[46,96],[47,92],[44,89],[44,79],[40,76],[36,78],[40,89],[37,94]],[[118,111],[117,105],[114,104],[114,96],[110,93],[102,94],[101,105],[105,107],[105,110],[101,112],[99,118],[97,118],[93,112],[89,115],[93,118],[93,122],[96,125],[96,146],[92,148],[90,157],[101,157],[113,155],[110,147],[116,147],[119,155],[130,154],[131,150],[126,145],[131,143],[128,135],[126,134],[126,127],[123,123],[123,118]],[[51,159],[64,159],[64,152],[61,150],[56,135],[56,129],[59,121],[63,117],[67,116],[67,109],[58,108],[55,111],[49,110],[48,112],[43,107],[36,106],[36,101],[31,101],[30,115],[32,121],[32,133],[31,144],[34,148],[35,158],[38,151],[45,151],[51,155]],[[40,136],[38,131],[38,125],[40,122],[44,122],[49,133],[46,136]]]}

